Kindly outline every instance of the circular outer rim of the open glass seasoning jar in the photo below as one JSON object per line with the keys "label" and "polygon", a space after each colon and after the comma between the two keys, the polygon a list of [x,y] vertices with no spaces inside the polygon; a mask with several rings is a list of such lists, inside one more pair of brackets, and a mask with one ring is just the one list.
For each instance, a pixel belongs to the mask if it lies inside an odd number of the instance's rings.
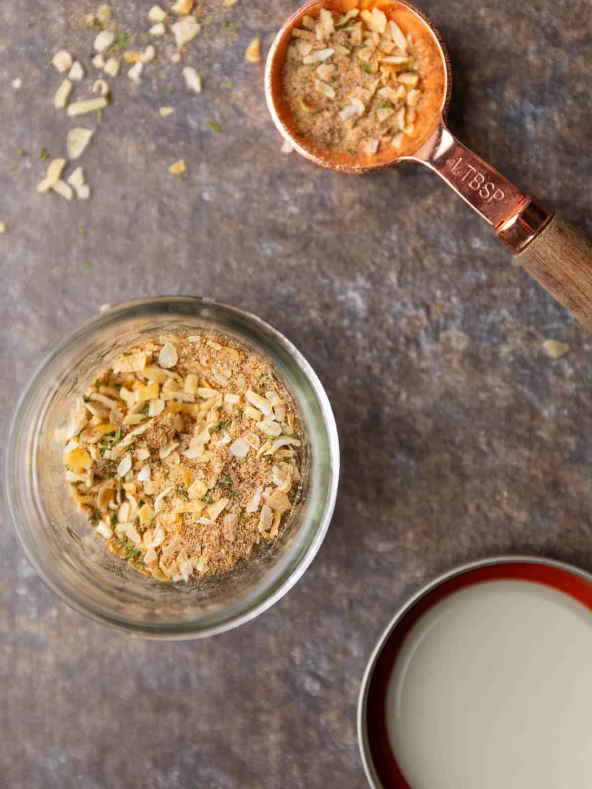
{"label": "circular outer rim of the open glass seasoning jar", "polygon": [[[328,452],[329,452],[329,467],[331,469],[331,479],[328,485],[327,490],[327,497],[324,505],[324,511],[320,518],[319,525],[317,526],[316,533],[314,533],[312,540],[310,541],[309,546],[305,549],[305,554],[302,556],[302,559],[298,562],[298,564],[293,567],[292,569],[287,569],[285,571],[285,576],[279,581],[276,581],[275,588],[272,586],[272,592],[268,596],[264,596],[263,599],[256,600],[252,606],[246,608],[244,611],[238,613],[238,615],[230,617],[221,623],[214,623],[209,626],[205,626],[203,629],[198,631],[187,631],[185,627],[191,627],[190,623],[187,625],[148,625],[143,626],[141,624],[136,623],[126,623],[119,621],[117,618],[111,618],[108,615],[103,615],[99,611],[96,611],[94,608],[90,606],[86,606],[81,603],[79,600],[76,599],[71,593],[69,593],[69,587],[59,585],[58,582],[51,578],[51,574],[48,574],[43,567],[43,563],[39,562],[37,559],[35,552],[32,551],[30,545],[28,544],[24,533],[21,531],[20,527],[20,518],[18,516],[18,505],[17,502],[14,500],[11,488],[9,485],[9,475],[8,469],[10,468],[10,458],[13,455],[13,449],[16,447],[16,440],[17,434],[19,432],[19,428],[21,426],[21,417],[23,414],[24,407],[28,402],[28,394],[30,391],[33,391],[36,385],[39,382],[41,376],[43,376],[44,372],[47,370],[47,367],[51,365],[51,362],[54,361],[56,357],[58,357],[66,348],[68,348],[73,342],[76,342],[77,339],[84,337],[87,335],[88,330],[91,327],[96,327],[97,324],[100,326],[102,323],[107,323],[107,320],[112,320],[114,316],[117,316],[120,313],[121,317],[125,317],[126,313],[133,313],[133,310],[138,307],[158,307],[162,305],[192,305],[192,304],[199,304],[204,306],[210,306],[212,308],[220,308],[224,311],[230,312],[230,314],[237,316],[238,318],[246,319],[250,323],[253,323],[255,327],[258,327],[264,330],[265,333],[271,334],[272,338],[279,342],[279,345],[283,346],[285,350],[290,353],[290,357],[294,360],[298,368],[301,372],[305,375],[306,379],[309,381],[310,386],[317,398],[317,405],[320,408],[320,412],[322,413],[325,427],[327,428],[327,438],[328,438]],[[169,310],[170,312],[170,310]],[[309,364],[309,361],[306,360],[304,355],[298,350],[294,343],[291,342],[281,331],[273,327],[270,323],[263,320],[257,315],[254,315],[253,312],[249,312],[244,310],[240,307],[235,305],[227,304],[223,301],[217,301],[210,297],[204,296],[183,296],[183,295],[163,295],[163,296],[155,296],[155,297],[140,297],[137,299],[132,299],[129,301],[124,301],[121,304],[110,306],[107,309],[103,309],[100,312],[97,312],[96,315],[91,316],[84,320],[82,323],[77,324],[69,333],[62,339],[61,342],[58,342],[56,346],[53,346],[51,350],[43,357],[43,360],[37,365],[32,375],[29,377],[27,383],[24,386],[23,391],[21,392],[20,397],[18,398],[17,405],[13,409],[13,415],[10,420],[9,424],[9,432],[8,432],[8,441],[6,443],[6,449],[3,453],[4,455],[4,469],[3,469],[3,480],[4,480],[4,491],[6,495],[6,502],[8,504],[8,511],[9,517],[13,524],[13,531],[17,534],[17,538],[19,543],[21,544],[21,548],[24,550],[24,554],[28,560],[28,563],[31,564],[36,573],[39,575],[39,578],[43,581],[43,583],[47,586],[48,589],[58,596],[62,602],[66,603],[69,608],[73,608],[74,611],[84,615],[88,619],[92,619],[95,622],[101,623],[103,625],[107,625],[111,628],[116,630],[122,630],[127,634],[135,635],[137,637],[142,638],[151,638],[154,640],[164,640],[164,641],[186,641],[186,640],[193,640],[197,638],[207,638],[208,636],[212,636],[215,634],[226,632],[227,630],[232,630],[235,627],[238,627],[242,624],[249,622],[251,619],[255,619],[258,615],[262,614],[268,608],[271,608],[278,600],[280,600],[295,584],[296,582],[302,578],[302,575],[305,573],[305,570],[308,569],[310,563],[312,563],[314,557],[317,555],[321,544],[323,543],[324,537],[328,531],[329,524],[332,520],[332,515],[335,510],[335,502],[337,499],[337,492],[339,488],[339,466],[340,466],[340,457],[339,457],[339,435],[337,432],[337,424],[335,422],[335,416],[333,414],[331,402],[329,401],[328,395],[324,390],[323,384],[320,382],[317,373],[313,370],[312,366]],[[163,629],[164,628],[164,629]],[[181,630],[181,632],[177,632],[177,630]]]}

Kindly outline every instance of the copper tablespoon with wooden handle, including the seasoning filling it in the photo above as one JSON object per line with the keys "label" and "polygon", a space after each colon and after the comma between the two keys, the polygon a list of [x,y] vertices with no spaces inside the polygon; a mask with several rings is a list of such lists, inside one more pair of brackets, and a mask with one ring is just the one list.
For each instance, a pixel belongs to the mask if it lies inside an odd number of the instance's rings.
{"label": "copper tablespoon with wooden handle, including the seasoning filling it", "polygon": [[[358,66],[367,79],[356,79]],[[272,43],[265,95],[279,132],[315,164],[356,174],[428,166],[592,330],[592,244],[451,134],[450,59],[419,9],[406,0],[310,0]],[[369,135],[363,144],[359,133]]]}

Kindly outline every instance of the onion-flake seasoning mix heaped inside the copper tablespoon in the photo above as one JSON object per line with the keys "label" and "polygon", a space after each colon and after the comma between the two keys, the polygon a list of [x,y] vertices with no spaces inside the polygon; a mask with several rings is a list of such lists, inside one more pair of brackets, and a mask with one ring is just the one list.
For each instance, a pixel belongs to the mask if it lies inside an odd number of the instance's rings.
{"label": "onion-flake seasoning mix heaped inside the copper tablespoon", "polygon": [[421,62],[384,11],[320,9],[292,34],[283,89],[299,136],[373,155],[414,133]]}

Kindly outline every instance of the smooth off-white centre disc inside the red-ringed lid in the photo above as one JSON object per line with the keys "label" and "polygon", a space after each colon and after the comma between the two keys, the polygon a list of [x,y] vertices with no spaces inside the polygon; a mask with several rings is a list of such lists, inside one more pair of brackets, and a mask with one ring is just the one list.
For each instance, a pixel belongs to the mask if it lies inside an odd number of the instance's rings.
{"label": "smooth off-white centre disc inside the red-ringed lid", "polygon": [[526,581],[461,589],[410,630],[387,713],[412,789],[592,787],[592,611]]}

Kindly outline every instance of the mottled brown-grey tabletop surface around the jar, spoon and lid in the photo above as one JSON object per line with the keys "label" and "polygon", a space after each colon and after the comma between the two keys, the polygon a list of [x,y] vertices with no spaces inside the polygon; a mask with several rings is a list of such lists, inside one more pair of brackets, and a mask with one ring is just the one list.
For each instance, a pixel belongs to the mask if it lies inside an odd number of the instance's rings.
{"label": "mottled brown-grey tabletop surface around the jar, spoon and lid", "polygon": [[[116,5],[125,30],[152,2]],[[335,518],[275,608],[167,644],[54,599],[4,510],[0,783],[10,789],[361,787],[359,683],[405,596],[497,552],[592,570],[590,335],[427,170],[354,177],[282,155],[263,64],[243,54],[255,35],[266,51],[296,3],[220,5],[209,8],[221,32],[189,47],[203,94],[188,95],[170,63],[137,87],[118,77],[83,159],[92,199],[68,204],[35,191],[40,149],[62,154],[76,125],[53,108],[60,78],[47,63],[66,46],[88,64],[92,34],[73,21],[88,5],[0,4],[3,435],[33,366],[100,305],[206,294],[270,321],[324,381],[343,447]],[[451,129],[592,234],[590,2],[422,9],[451,53]],[[158,118],[162,105],[176,107],[172,118]],[[185,181],[167,172],[181,157]],[[553,361],[545,338],[569,353]]]}

